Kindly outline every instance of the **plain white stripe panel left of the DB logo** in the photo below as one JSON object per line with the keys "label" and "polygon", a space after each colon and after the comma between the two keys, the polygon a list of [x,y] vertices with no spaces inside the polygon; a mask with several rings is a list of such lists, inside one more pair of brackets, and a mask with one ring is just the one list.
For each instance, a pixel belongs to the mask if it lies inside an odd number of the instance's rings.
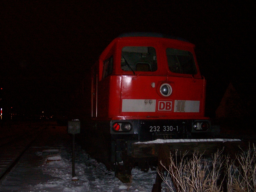
{"label": "plain white stripe panel left of the DB logo", "polygon": [[[155,112],[155,99],[123,99],[122,112]],[[150,104],[151,103],[151,104]]]}

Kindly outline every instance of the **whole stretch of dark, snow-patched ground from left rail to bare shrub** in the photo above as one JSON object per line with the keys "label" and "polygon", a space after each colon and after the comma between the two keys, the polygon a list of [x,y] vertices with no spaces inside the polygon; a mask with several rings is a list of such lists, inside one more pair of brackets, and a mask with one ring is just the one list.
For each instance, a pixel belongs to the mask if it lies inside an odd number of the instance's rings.
{"label": "whole stretch of dark, snow-patched ground from left rail to bare shrub", "polygon": [[[23,154],[18,164],[0,183],[0,192],[149,192],[152,190],[156,170],[145,173],[134,168],[132,182],[125,184],[114,176],[114,172],[108,171],[105,165],[91,158],[78,144],[76,144],[75,158],[75,173],[78,181],[72,181],[72,146],[69,142],[71,138],[65,131],[61,134],[56,129],[48,128],[41,136],[41,140],[37,140]],[[56,140],[56,136],[62,138]],[[48,139],[47,143],[44,142],[45,138]],[[167,191],[164,184],[162,187],[165,188],[162,191]]]}

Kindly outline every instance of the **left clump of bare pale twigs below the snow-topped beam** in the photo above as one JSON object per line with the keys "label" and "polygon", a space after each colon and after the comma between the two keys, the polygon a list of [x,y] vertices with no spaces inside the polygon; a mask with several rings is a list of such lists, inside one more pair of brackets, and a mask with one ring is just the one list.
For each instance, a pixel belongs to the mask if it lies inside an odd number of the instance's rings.
{"label": "left clump of bare pale twigs below the snow-topped beam", "polygon": [[161,162],[167,173],[166,176],[164,176],[163,171],[157,171],[172,192],[176,192],[176,190],[172,187],[171,180],[174,186],[177,186],[177,192],[219,192],[221,191],[221,184],[217,185],[217,181],[224,167],[222,151],[217,151],[212,160],[205,159],[203,154],[196,152],[191,158],[186,158],[187,153],[185,153],[180,155],[181,160],[178,162],[176,150],[175,160],[173,155],[170,156],[169,168],[166,168]]}

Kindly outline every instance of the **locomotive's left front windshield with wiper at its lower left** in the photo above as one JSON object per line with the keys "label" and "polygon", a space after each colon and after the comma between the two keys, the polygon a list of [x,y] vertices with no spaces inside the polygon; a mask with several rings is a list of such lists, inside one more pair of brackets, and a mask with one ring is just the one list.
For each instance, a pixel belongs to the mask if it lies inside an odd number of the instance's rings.
{"label": "locomotive's left front windshield with wiper at its lower left", "polygon": [[154,47],[123,47],[121,57],[123,71],[156,71],[157,60]]}

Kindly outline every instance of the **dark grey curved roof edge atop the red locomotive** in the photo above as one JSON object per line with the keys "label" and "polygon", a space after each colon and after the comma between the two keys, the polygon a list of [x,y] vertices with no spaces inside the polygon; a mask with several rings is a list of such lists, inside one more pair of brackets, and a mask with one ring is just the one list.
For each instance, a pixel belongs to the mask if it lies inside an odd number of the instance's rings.
{"label": "dark grey curved roof edge atop the red locomotive", "polygon": [[120,34],[118,37],[160,37],[160,38],[168,38],[168,39],[175,39],[180,41],[189,42],[183,38],[175,37],[172,35],[166,35],[162,33],[151,33],[151,32],[130,32],[130,33],[123,33]]}

